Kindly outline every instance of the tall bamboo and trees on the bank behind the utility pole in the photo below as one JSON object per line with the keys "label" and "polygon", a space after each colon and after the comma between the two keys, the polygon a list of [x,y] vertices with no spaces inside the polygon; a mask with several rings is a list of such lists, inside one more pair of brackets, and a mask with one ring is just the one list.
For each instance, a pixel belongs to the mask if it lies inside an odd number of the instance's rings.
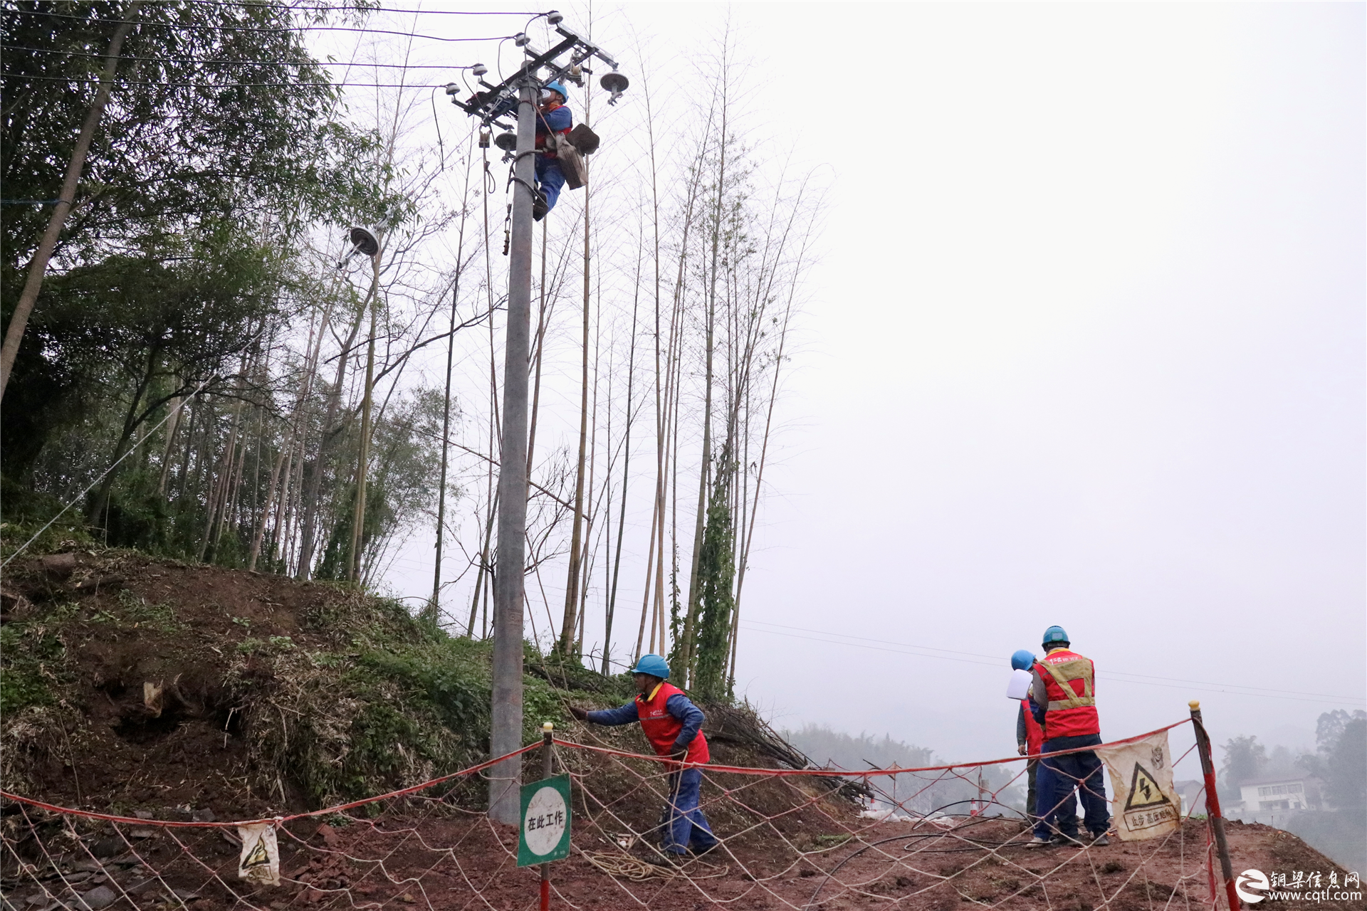
{"label": "tall bamboo and trees on the bank behind the utility pole", "polygon": [[[67,5],[0,14],[26,48],[0,78],[7,199],[59,193],[126,11]],[[428,19],[319,5],[130,16],[0,400],[3,519],[85,492],[108,546],[422,591],[488,636],[509,165],[437,104],[421,41],[379,34]],[[630,101],[573,90],[604,143],[536,234],[528,636],[603,673],[663,653],[727,698],[820,191],[756,139],[733,34],[653,66],[619,31]],[[0,206],[11,310],[46,217]]]}

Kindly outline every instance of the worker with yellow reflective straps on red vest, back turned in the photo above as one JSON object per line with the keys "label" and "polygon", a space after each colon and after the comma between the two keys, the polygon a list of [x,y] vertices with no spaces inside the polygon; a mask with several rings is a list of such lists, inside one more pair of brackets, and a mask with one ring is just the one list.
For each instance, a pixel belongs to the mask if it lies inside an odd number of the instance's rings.
{"label": "worker with yellow reflective straps on red vest, back turned", "polygon": [[1031,672],[1035,717],[1040,720],[1040,714],[1043,716],[1044,755],[1040,759],[1043,774],[1036,781],[1039,815],[1035,819],[1035,837],[1025,844],[1027,848],[1054,844],[1051,822],[1059,844],[1083,844],[1077,837],[1074,789],[1083,800],[1083,822],[1091,844],[1110,844],[1106,837],[1110,828],[1106,783],[1096,753],[1083,750],[1061,757],[1048,755],[1059,750],[1099,746],[1102,742],[1095,697],[1096,668],[1091,658],[1070,651],[1070,645],[1064,627],[1044,630],[1044,657],[1035,662]]}

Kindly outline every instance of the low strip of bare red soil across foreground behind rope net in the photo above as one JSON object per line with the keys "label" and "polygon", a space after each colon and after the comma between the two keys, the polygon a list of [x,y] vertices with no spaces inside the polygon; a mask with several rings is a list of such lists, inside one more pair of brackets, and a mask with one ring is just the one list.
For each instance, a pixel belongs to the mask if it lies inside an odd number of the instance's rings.
{"label": "low strip of bare red soil across foreground behind rope net", "polygon": [[[983,840],[1006,840],[1018,833],[1016,824],[1003,821],[971,828],[973,837]],[[301,821],[284,829],[280,870],[286,882],[280,886],[249,888],[236,880],[238,851],[217,830],[180,830],[135,839],[138,856],[159,877],[149,877],[142,866],[122,869],[109,863],[108,869],[122,889],[152,880],[133,897],[141,907],[156,904],[152,899],[172,891],[194,911],[230,908],[239,899],[273,911],[536,907],[539,869],[518,869],[515,832],[480,815],[452,813],[446,807],[410,807],[403,814],[350,821],[339,828]],[[1232,829],[1236,871],[1256,867],[1327,873],[1334,869],[1295,836],[1262,825]],[[968,835],[968,830],[958,835]],[[874,848],[865,847],[879,841],[882,844]],[[552,908],[820,907],[849,911],[897,907],[947,911],[982,904],[1141,911],[1208,907],[1204,904],[1208,881],[1200,866],[1206,828],[1200,821],[1188,822],[1181,836],[1174,835],[1165,843],[1117,841],[1103,848],[1043,852],[1018,847],[965,850],[957,835],[913,839],[905,824],[879,824],[861,830],[857,841],[805,856],[785,848],[781,841],[767,847],[760,843],[729,845],[722,852],[725,856],[707,855],[673,877],[655,875],[644,881],[610,877],[585,858],[585,851],[621,854],[592,826],[577,829],[574,843],[570,858],[551,865]],[[904,850],[908,844],[919,850]],[[633,854],[642,858],[647,852],[636,850]],[[834,875],[828,877],[833,870]],[[56,891],[59,884],[49,885]],[[86,886],[89,881],[78,891]],[[16,889],[14,895],[22,899],[26,889]],[[139,897],[144,895],[148,900]],[[1278,907],[1326,904],[1281,901]]]}

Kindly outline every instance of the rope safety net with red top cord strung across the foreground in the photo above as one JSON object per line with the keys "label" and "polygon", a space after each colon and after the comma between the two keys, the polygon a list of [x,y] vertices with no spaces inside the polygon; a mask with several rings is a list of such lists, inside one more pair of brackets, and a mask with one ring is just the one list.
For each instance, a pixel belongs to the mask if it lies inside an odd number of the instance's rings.
{"label": "rope safety net with red top cord strung across the foreground", "polygon": [[[1107,847],[1025,848],[1031,828],[1007,806],[1024,796],[1024,758],[897,769],[895,779],[886,769],[708,765],[700,809],[719,844],[674,865],[659,860],[677,766],[556,739],[555,773],[573,781],[573,847],[551,866],[551,906],[1217,907],[1207,821],[1189,810],[1182,818],[1165,792],[1174,761],[1154,750],[1166,750],[1166,731],[1099,750],[1113,800]],[[526,757],[525,779],[537,758]],[[0,791],[0,911],[534,908],[540,871],[517,866],[517,832],[472,809],[492,765],[231,822],[189,807],[179,819],[100,814]]]}

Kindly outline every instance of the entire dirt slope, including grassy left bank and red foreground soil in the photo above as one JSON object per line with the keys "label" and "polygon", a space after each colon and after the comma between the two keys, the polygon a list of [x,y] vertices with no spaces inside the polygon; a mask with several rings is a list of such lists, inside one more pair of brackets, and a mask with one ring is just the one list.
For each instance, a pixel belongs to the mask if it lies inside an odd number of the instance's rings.
{"label": "entire dirt slope, including grassy left bank and red foreground soil", "polygon": [[[644,747],[634,729],[569,725],[563,701],[606,705],[621,695],[611,682],[562,675],[552,687],[558,675],[540,675],[528,677],[529,728],[559,718],[570,736]],[[0,580],[0,783],[63,806],[180,821],[329,806],[477,761],[487,703],[484,646],[336,586],[89,552],[33,559]],[[768,763],[744,738],[718,733],[716,761]],[[659,811],[645,787],[652,766],[571,750],[562,762],[577,781],[576,854],[554,865],[554,907],[776,908],[815,899],[833,910],[1072,911],[1110,899],[1111,908],[1139,911],[1197,907],[1207,891],[1206,829],[1196,821],[1161,848],[990,852],[964,841],[966,829],[912,835],[906,824],[861,824],[848,800],[812,783],[738,776],[712,776],[704,791],[727,854],[688,877],[614,880],[585,852],[621,858],[621,830],[649,828]],[[324,825],[290,822],[280,833],[290,882],[257,889],[236,880],[231,832],[72,824],[0,802],[0,833],[12,848],[0,855],[0,911],[79,907],[60,899],[63,877],[83,877],[75,893],[118,886],[130,896],[118,907],[227,908],[230,886],[273,911],[528,907],[537,873],[515,869],[515,833],[478,813],[483,789],[473,781]],[[857,840],[848,840],[852,830]],[[920,837],[927,832],[935,837]],[[1013,822],[972,822],[983,843],[1017,833]],[[1336,869],[1266,826],[1232,825],[1230,840],[1236,871]],[[860,850],[868,843],[880,844]],[[636,844],[632,854],[649,852]],[[37,865],[27,878],[19,856]]]}

